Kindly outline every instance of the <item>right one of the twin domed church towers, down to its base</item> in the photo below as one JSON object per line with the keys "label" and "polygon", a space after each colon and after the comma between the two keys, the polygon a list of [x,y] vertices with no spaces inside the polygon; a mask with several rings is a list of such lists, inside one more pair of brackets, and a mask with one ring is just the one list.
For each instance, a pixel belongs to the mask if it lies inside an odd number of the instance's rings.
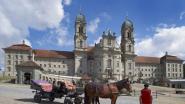
{"label": "right one of the twin domed church towers, down to its base", "polygon": [[128,18],[123,22],[121,27],[121,51],[122,51],[122,64],[124,66],[123,77],[134,78],[135,61],[136,57],[134,52],[134,27],[132,21]]}

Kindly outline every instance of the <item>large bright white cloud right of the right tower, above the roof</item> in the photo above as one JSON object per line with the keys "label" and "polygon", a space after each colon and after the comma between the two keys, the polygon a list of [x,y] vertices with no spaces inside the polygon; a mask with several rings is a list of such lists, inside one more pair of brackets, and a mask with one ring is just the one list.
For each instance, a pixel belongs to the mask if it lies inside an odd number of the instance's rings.
{"label": "large bright white cloud right of the right tower, above the roof", "polygon": [[185,58],[185,26],[157,27],[152,37],[136,41],[138,55],[162,56],[165,51],[169,54]]}

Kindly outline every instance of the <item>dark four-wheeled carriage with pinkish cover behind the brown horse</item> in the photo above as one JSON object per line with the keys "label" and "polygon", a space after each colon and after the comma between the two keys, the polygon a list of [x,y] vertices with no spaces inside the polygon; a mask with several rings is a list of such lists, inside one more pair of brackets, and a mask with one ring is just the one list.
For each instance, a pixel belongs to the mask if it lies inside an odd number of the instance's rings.
{"label": "dark four-wheeled carriage with pinkish cover behind the brown horse", "polygon": [[42,99],[49,99],[54,101],[55,98],[64,98],[64,104],[81,104],[83,92],[79,92],[75,89],[68,89],[64,82],[60,83],[60,86],[55,86],[47,81],[32,80],[31,89],[34,89],[34,101],[40,103]]}

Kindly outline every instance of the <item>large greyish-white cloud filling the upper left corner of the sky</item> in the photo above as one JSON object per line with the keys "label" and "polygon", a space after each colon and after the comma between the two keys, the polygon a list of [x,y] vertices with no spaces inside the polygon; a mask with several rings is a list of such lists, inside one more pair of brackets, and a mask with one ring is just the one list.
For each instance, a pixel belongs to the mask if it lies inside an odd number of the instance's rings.
{"label": "large greyish-white cloud filling the upper left corner of the sky", "polygon": [[[46,30],[59,28],[64,19],[64,5],[71,0],[0,0],[0,48],[21,42],[27,38],[29,29]],[[0,57],[3,57],[0,51]],[[3,58],[0,60],[3,64]]]}

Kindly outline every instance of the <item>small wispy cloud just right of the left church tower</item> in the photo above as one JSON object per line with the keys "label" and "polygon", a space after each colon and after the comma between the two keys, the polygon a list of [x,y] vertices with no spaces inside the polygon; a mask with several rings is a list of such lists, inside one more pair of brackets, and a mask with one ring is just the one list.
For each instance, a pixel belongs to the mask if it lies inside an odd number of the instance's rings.
{"label": "small wispy cloud just right of the left church tower", "polygon": [[98,28],[99,23],[100,23],[100,18],[98,17],[90,21],[89,25],[87,26],[87,31],[91,33],[95,33]]}

